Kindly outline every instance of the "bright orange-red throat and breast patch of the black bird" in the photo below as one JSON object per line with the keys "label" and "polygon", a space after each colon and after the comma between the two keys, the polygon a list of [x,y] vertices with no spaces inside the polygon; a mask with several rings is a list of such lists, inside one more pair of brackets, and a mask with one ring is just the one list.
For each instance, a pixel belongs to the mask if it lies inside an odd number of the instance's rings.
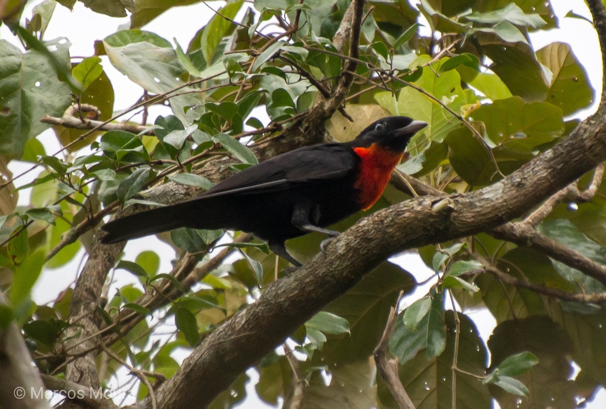
{"label": "bright orange-red throat and breast patch of the black bird", "polygon": [[358,197],[362,209],[367,210],[379,200],[391,178],[391,171],[400,163],[403,152],[390,152],[373,143],[368,148],[354,148],[362,159],[354,187],[360,191]]}

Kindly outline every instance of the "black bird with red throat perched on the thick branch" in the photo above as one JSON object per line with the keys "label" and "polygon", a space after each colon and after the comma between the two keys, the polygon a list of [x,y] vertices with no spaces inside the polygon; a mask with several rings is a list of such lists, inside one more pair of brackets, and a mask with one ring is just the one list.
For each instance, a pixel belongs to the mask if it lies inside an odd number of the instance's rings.
{"label": "black bird with red throat perched on the thick branch", "polygon": [[267,241],[295,266],[285,240],[308,232],[334,237],[325,227],[368,209],[381,197],[408,141],[427,123],[380,119],[345,143],[321,143],[276,155],[232,175],[204,194],[105,224],[102,243],[178,227],[230,229]]}

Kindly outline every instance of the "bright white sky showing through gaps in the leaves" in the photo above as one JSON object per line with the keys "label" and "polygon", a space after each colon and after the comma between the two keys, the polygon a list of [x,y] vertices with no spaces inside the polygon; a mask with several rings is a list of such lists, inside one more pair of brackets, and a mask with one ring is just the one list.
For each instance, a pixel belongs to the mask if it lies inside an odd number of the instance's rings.
{"label": "bright white sky showing through gaps in the leaves", "polygon": [[[415,4],[415,1],[411,2]],[[24,18],[29,18],[31,16],[32,7],[37,3],[38,1],[30,1],[30,4],[28,4],[26,11],[24,12]],[[221,7],[222,3],[223,2],[221,1],[208,2],[208,4],[215,9]],[[587,6],[583,0],[552,0],[551,3],[556,16],[559,18],[559,25],[561,28],[559,30],[539,31],[538,33],[532,34],[531,41],[533,42],[534,48],[538,50],[554,41],[568,42],[581,64],[585,67],[585,70],[587,70],[591,83],[593,87],[596,88],[596,95],[599,96],[601,93],[602,61],[595,31],[587,21],[564,18],[569,10],[573,10],[579,15],[590,18]],[[211,16],[213,16],[213,13],[204,4],[171,8],[166,13],[159,16],[159,18],[156,18],[145,26],[144,30],[157,33],[170,42],[173,42],[174,38],[181,44],[182,48],[186,48],[196,31],[206,24]],[[93,42],[95,40],[101,40],[106,36],[115,33],[119,26],[125,24],[128,24],[128,18],[116,19],[93,13],[85,8],[81,2],[76,3],[73,12],[70,12],[61,5],[57,5],[55,14],[45,33],[45,39],[48,40],[59,36],[65,36],[72,42],[72,47],[70,48],[70,54],[72,56],[91,56],[93,54]],[[0,38],[19,46],[19,42],[15,40],[5,25],[0,27]],[[114,109],[115,111],[120,111],[132,105],[139,96],[141,96],[141,88],[116,71],[112,65],[109,64],[107,57],[104,56],[102,59],[104,70],[112,80],[116,94]],[[584,119],[589,114],[593,113],[597,103],[598,101],[596,100],[594,106],[577,114],[576,117]],[[150,118],[154,118],[159,114],[168,113],[169,111],[167,108],[155,107],[150,110]],[[53,153],[59,148],[54,134],[50,131],[47,131],[39,137],[39,140],[45,145],[47,154]],[[24,164],[18,162],[12,162],[9,168],[15,172],[15,174],[27,169]],[[17,185],[20,186],[31,182],[37,174],[38,172],[32,172],[32,174],[19,179]],[[27,204],[28,200],[28,190],[22,191],[21,197],[19,198],[19,204]],[[167,244],[164,244],[153,237],[129,241],[125,250],[127,254],[126,259],[135,260],[136,255],[143,250],[154,250],[159,254],[165,254],[164,257],[161,257],[160,270],[162,272],[170,270],[170,260],[174,257],[173,250],[171,247],[167,246]],[[58,293],[75,279],[76,273],[79,271],[78,266],[83,261],[83,257],[85,257],[84,252],[81,252],[81,256],[76,257],[75,260],[67,266],[56,270],[45,270],[33,290],[35,301],[38,303],[47,303],[48,301],[55,299]],[[433,274],[431,270],[427,269],[427,267],[420,262],[416,255],[402,255],[398,257],[398,262],[402,263],[402,265],[412,272],[418,281],[423,281]],[[116,274],[116,286],[122,286],[130,282],[133,282],[133,277],[130,274],[125,273],[124,271]],[[417,289],[415,294],[411,296],[411,299],[407,300],[407,304],[410,304],[413,299],[425,295],[429,285],[430,284],[427,284],[421,289]],[[110,292],[110,294],[113,294],[113,292]],[[495,325],[495,321],[490,313],[468,312],[468,315],[474,319],[476,325],[478,325],[482,338],[486,341]],[[249,371],[249,374],[253,378],[256,378],[254,371]],[[248,387],[248,395],[252,396],[254,394],[254,386],[250,384]],[[245,407],[268,406],[262,404],[258,399],[250,398],[247,399]],[[594,402],[588,404],[586,407],[590,409],[606,407],[606,391],[602,389]]]}

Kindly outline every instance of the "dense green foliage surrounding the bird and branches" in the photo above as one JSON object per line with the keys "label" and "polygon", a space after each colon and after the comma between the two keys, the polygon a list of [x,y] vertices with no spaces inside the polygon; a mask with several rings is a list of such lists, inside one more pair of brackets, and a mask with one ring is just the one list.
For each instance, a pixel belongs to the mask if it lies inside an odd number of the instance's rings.
{"label": "dense green foliage surrounding the bird and branches", "polygon": [[[43,371],[64,370],[65,356],[56,345],[79,324],[69,312],[72,289],[50,304],[32,300],[38,276],[73,266],[68,263],[90,252],[91,229],[108,212],[158,200],[145,189],[170,182],[208,189],[224,168],[239,171],[257,163],[256,146],[308,113],[320,98],[318,88],[334,87],[344,67],[334,38],[347,0],[230,0],[184,48],[141,30],[169,8],[194,2],[85,1],[96,13],[113,17],[128,11],[131,23],[95,44],[95,53],[85,58],[70,57],[65,39],[44,38],[55,7],[71,8],[75,1],[56,6],[45,0],[33,8],[25,28],[13,25],[25,50],[0,40],[0,163],[5,168],[21,160],[35,165],[28,172],[36,173],[32,183],[15,178],[0,190],[1,282],[3,290],[10,289],[10,307],[0,306],[0,324],[18,322]],[[421,0],[418,8],[405,1],[368,1],[366,10],[360,64],[345,105],[356,120],[351,124],[337,113],[327,129],[343,141],[388,114],[426,121],[428,128],[411,141],[411,158],[398,169],[439,191],[469,192],[511,174],[570,133],[576,126],[571,118],[593,102],[587,73],[569,45],[554,42],[534,50],[530,42],[533,31],[558,26],[550,1]],[[290,36],[276,34],[268,24],[282,32],[296,19],[298,30]],[[54,125],[61,151],[48,152],[39,136],[50,125],[39,119],[61,117],[70,103],[99,108],[98,115],[85,119],[124,118],[124,113],[113,117],[121,90],[112,87],[108,65],[142,89],[142,102],[128,113],[142,109],[145,120],[149,106],[168,103],[171,114],[151,118],[139,131]],[[230,160],[217,165],[216,157]],[[579,186],[590,183],[586,175]],[[32,188],[27,206],[16,206],[16,195],[27,188]],[[605,264],[604,189],[572,207],[557,204],[538,232]],[[405,198],[389,187],[372,210]],[[216,243],[223,235],[179,229],[162,238],[175,249],[176,265],[190,263],[193,269],[218,253],[210,250],[221,249]],[[318,252],[321,239],[311,234],[292,240],[290,250],[304,260]],[[197,277],[195,286],[176,276],[177,267],[159,269],[155,252],[134,260],[122,255],[115,273],[130,273],[132,284],[108,284],[107,304],[98,310],[105,325],[119,322],[127,331],[116,333],[113,327],[109,332],[118,342],[106,335],[99,342],[132,367],[173,376],[176,348],[194,348],[275,280],[275,255],[264,244],[236,240],[226,246],[243,257],[228,258]],[[606,384],[602,304],[550,298],[505,283],[488,267],[518,283],[568,293],[603,294],[603,283],[487,232],[423,247],[419,254],[436,279],[400,313],[389,343],[402,384],[418,407],[451,407],[453,399],[458,407],[490,407],[496,399],[502,408],[573,408]],[[285,266],[279,261],[280,270]],[[172,292],[144,305],[144,293],[159,286]],[[277,350],[255,366],[259,398],[288,404],[293,390],[304,385],[307,407],[396,407],[368,358],[389,307],[401,291],[416,287],[410,273],[393,264],[368,273],[290,336],[285,348],[296,353]],[[445,311],[449,299],[461,312]],[[472,308],[485,308],[496,319],[487,344],[468,316]],[[170,336],[161,341],[150,336],[173,320]],[[157,322],[165,326],[156,327]],[[104,385],[121,366],[105,359]],[[573,362],[579,367],[575,378]],[[238,378],[212,407],[245,399],[247,379]],[[139,385],[142,399],[148,390]]]}

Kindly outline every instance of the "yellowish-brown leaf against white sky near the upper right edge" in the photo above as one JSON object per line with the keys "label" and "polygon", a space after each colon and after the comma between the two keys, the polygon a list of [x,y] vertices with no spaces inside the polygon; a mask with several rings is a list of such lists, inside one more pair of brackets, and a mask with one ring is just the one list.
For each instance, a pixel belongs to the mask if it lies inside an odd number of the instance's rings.
{"label": "yellowish-brown leaf against white sky near the upper right edge", "polygon": [[595,90],[570,45],[552,42],[537,51],[536,56],[552,74],[547,102],[562,108],[564,115],[587,108],[593,102]]}

